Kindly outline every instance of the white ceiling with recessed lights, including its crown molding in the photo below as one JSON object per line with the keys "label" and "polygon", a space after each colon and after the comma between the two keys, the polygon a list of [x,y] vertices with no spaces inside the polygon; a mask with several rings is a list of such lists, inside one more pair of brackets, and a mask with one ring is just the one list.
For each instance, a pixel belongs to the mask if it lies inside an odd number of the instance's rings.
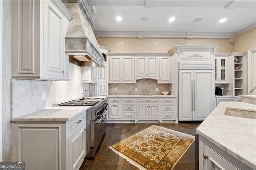
{"label": "white ceiling with recessed lights, including its crown molding", "polygon": [[[96,12],[96,37],[234,38],[256,27],[256,0],[87,1]],[[196,18],[202,20],[193,22]],[[222,18],[228,20],[219,23]]]}

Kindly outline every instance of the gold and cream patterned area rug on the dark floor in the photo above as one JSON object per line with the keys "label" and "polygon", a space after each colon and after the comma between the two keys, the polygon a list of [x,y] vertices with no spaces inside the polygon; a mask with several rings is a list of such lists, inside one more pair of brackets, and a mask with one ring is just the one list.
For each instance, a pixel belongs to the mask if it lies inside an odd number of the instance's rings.
{"label": "gold and cream patterned area rug on the dark floor", "polygon": [[152,125],[110,149],[141,170],[171,170],[194,140],[194,136]]}

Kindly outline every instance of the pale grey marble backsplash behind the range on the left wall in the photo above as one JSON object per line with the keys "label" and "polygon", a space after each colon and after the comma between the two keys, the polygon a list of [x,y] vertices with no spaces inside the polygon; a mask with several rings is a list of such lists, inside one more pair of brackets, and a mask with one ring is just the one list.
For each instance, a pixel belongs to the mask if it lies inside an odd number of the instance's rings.
{"label": "pale grey marble backsplash behind the range on the left wall", "polygon": [[[72,99],[89,96],[89,84],[81,83],[81,67],[69,63],[70,81],[12,80],[12,117],[18,117],[52,107]],[[87,89],[82,94],[81,89]],[[46,92],[46,100],[41,92]]]}

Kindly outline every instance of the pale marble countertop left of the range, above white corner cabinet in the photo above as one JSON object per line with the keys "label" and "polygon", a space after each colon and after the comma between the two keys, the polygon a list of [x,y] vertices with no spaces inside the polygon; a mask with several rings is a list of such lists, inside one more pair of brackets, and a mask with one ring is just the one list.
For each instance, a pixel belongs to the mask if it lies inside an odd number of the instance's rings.
{"label": "pale marble countertop left of the range, above white corner cabinet", "polygon": [[89,108],[88,106],[49,107],[24,116],[12,118],[10,121],[70,121]]}

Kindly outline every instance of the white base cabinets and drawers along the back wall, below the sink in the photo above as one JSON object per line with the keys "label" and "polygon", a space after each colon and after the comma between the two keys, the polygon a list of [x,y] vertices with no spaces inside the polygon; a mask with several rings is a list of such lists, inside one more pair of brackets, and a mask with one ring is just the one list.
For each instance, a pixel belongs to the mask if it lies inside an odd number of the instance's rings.
{"label": "white base cabinets and drawers along the back wall, below the sink", "polygon": [[178,123],[173,95],[108,95],[108,103],[108,123]]}

